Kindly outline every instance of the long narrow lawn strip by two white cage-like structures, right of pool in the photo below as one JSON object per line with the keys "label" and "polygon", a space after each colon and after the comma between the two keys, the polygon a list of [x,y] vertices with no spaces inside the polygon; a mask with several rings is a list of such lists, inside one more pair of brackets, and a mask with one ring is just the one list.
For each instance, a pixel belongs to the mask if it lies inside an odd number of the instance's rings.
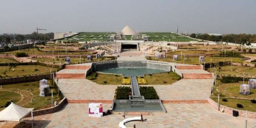
{"label": "long narrow lawn strip by two white cage-like structures, right of pool", "polygon": [[[211,58],[211,61],[210,61]],[[243,62],[241,60],[241,58],[239,57],[232,57],[233,58],[233,62]],[[157,61],[166,61],[166,62],[176,62],[176,63],[183,63],[184,62],[184,56],[179,56],[178,55],[178,60],[175,61],[173,60],[173,57],[165,57],[162,59],[156,59],[155,57],[149,57],[150,60],[157,60]],[[219,61],[231,61],[230,57],[204,57],[205,63],[209,63],[209,62],[219,62]],[[199,57],[185,57],[185,64],[190,64],[190,65],[196,65],[199,64]],[[203,62],[200,63],[201,65],[203,64]]]}

